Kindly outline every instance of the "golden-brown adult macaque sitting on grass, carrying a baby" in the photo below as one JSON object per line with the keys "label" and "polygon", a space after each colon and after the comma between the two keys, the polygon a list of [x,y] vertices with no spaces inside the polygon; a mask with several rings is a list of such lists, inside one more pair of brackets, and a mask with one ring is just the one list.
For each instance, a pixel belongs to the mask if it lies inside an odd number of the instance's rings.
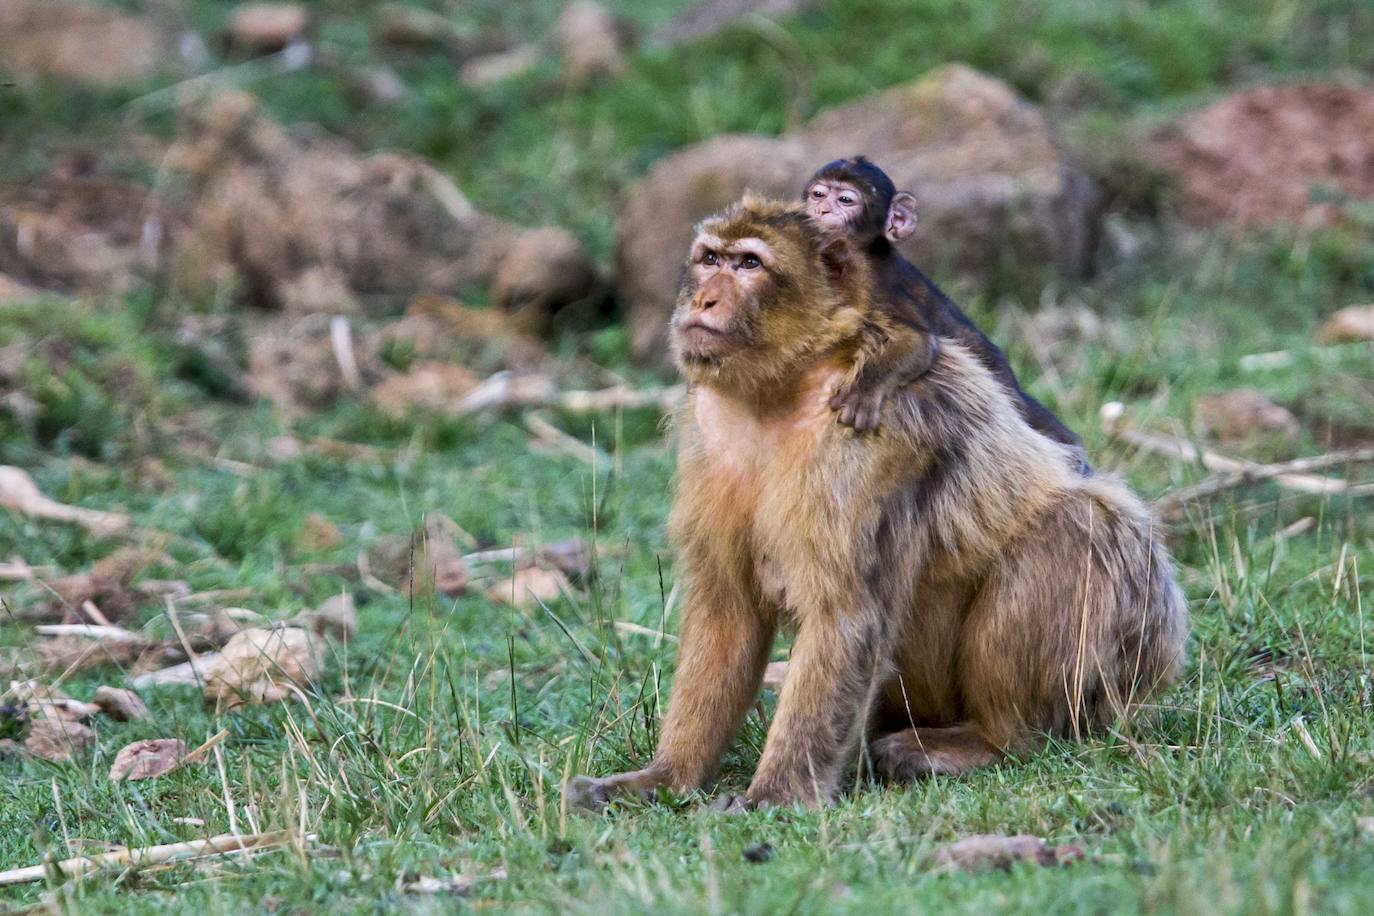
{"label": "golden-brown adult macaque sitting on grass, carrying a baby", "polygon": [[1145,507],[1033,433],[962,341],[889,398],[885,435],[835,423],[863,328],[890,325],[882,295],[797,205],[746,199],[701,224],[672,319],[690,383],[677,672],[649,765],[576,777],[570,803],[702,786],[783,623],[796,641],[750,805],[827,803],[866,735],[889,777],[962,773],[1173,677],[1186,607]]}

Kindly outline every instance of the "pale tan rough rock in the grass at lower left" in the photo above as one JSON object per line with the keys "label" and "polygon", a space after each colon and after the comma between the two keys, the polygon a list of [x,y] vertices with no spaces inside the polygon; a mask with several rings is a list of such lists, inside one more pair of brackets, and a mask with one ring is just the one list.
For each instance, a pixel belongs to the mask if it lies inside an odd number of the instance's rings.
{"label": "pale tan rough rock in the grass at lower left", "polygon": [[210,665],[205,699],[217,710],[279,703],[313,684],[323,669],[322,645],[304,629],[246,629],[225,643]]}

